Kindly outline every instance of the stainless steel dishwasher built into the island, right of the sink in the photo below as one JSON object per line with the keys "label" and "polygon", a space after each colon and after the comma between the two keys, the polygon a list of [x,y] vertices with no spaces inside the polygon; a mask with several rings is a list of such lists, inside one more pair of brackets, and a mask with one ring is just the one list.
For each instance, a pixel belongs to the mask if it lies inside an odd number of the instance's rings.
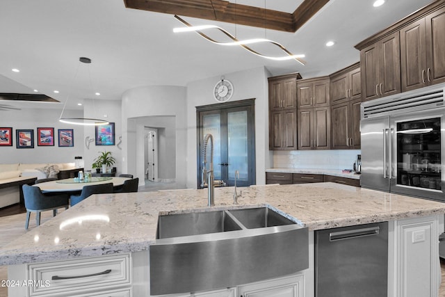
{"label": "stainless steel dishwasher built into the island, right of the sink", "polygon": [[316,297],[383,297],[387,287],[387,222],[315,232]]}

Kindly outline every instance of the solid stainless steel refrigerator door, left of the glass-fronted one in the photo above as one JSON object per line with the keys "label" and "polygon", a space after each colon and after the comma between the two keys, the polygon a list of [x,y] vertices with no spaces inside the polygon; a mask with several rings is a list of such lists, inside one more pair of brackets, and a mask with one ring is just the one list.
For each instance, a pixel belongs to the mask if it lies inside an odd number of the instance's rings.
{"label": "solid stainless steel refrigerator door, left of the glass-fronted one", "polygon": [[389,191],[389,117],[362,120],[362,176],[364,188]]}

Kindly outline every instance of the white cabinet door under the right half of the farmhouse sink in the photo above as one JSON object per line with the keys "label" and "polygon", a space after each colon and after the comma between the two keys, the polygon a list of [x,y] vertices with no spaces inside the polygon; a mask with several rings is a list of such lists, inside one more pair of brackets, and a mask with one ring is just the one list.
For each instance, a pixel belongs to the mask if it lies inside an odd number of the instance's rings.
{"label": "white cabinet door under the right half of the farmhouse sink", "polygon": [[304,297],[303,275],[254,282],[238,287],[240,297]]}

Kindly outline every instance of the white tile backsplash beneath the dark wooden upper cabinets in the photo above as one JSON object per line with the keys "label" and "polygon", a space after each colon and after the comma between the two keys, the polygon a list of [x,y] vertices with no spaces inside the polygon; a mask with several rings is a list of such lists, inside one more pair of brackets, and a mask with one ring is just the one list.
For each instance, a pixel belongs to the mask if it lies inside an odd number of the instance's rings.
{"label": "white tile backsplash beneath the dark wooden upper cabinets", "polygon": [[273,168],[353,169],[361,150],[274,151]]}

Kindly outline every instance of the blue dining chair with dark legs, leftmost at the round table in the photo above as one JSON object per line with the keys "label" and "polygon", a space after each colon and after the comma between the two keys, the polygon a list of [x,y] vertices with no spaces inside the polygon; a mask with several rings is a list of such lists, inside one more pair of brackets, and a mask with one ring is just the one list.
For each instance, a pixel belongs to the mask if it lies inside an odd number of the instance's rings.
{"label": "blue dining chair with dark legs, leftmost at the round table", "polygon": [[68,208],[69,202],[66,194],[51,193],[51,195],[45,195],[38,186],[29,186],[27,184],[24,184],[22,189],[26,208],[26,230],[29,227],[31,212],[35,212],[35,222],[39,226],[41,211],[52,210],[53,216],[56,216],[57,209]]}

